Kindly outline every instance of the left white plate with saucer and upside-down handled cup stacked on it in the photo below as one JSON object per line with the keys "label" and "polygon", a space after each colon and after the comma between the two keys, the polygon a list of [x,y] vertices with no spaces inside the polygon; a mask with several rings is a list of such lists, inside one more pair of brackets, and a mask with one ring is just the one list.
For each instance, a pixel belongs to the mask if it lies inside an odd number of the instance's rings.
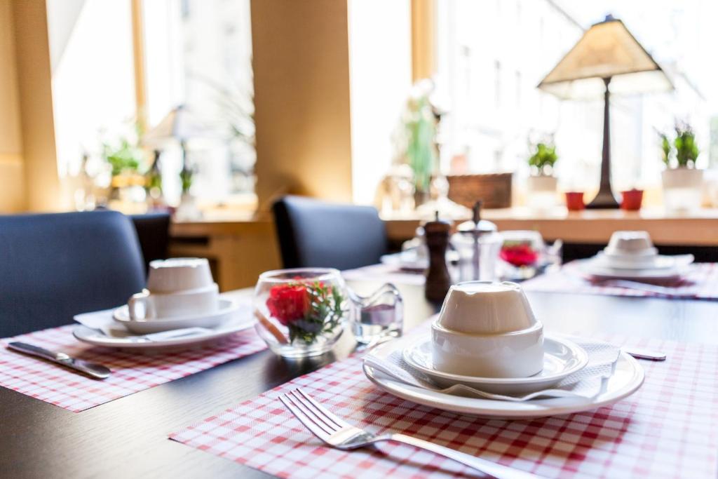
{"label": "left white plate with saucer and upside-down handled cup stacked on it", "polygon": [[247,306],[221,297],[207,259],[151,261],[147,286],[121,307],[75,316],[75,338],[116,348],[195,345],[252,327]]}

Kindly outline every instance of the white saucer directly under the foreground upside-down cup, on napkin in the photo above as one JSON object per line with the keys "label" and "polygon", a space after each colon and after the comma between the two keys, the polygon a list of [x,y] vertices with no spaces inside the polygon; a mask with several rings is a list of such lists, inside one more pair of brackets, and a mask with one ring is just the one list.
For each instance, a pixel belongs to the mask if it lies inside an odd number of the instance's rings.
{"label": "white saucer directly under the foreground upside-down cup, on napkin", "polygon": [[465,384],[480,391],[509,395],[549,389],[588,363],[586,351],[564,338],[544,338],[544,369],[528,378],[480,378],[438,371],[432,361],[432,340],[428,335],[422,335],[404,348],[403,356],[409,366],[426,374],[442,388]]}

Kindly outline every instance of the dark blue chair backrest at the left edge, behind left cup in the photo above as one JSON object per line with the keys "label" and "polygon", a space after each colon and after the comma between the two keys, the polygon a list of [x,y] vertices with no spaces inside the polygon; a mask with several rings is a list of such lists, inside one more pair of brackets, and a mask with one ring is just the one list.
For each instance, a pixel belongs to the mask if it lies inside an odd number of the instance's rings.
{"label": "dark blue chair backrest at the left edge, behind left cup", "polygon": [[144,284],[135,228],[121,213],[0,216],[0,337],[119,306]]}

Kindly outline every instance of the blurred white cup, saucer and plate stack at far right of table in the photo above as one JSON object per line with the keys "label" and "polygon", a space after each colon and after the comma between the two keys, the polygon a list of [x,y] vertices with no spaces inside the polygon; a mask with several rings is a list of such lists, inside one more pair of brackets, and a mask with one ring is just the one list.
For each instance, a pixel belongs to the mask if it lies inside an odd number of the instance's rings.
{"label": "blurred white cup, saucer and plate stack at far right of table", "polygon": [[582,264],[585,274],[595,280],[623,279],[654,284],[679,281],[692,254],[658,254],[648,231],[615,231],[608,246]]}

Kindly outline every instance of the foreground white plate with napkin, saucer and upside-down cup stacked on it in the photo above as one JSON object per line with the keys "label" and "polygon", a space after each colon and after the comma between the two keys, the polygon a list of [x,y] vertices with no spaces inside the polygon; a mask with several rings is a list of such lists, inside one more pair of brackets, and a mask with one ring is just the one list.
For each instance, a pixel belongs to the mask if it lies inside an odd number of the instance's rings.
{"label": "foreground white plate with napkin, saucer and upside-down cup stacked on it", "polygon": [[429,328],[417,327],[365,357],[365,375],[402,399],[482,417],[570,414],[612,404],[643,383],[615,345],[544,335],[511,282],[449,289]]}

